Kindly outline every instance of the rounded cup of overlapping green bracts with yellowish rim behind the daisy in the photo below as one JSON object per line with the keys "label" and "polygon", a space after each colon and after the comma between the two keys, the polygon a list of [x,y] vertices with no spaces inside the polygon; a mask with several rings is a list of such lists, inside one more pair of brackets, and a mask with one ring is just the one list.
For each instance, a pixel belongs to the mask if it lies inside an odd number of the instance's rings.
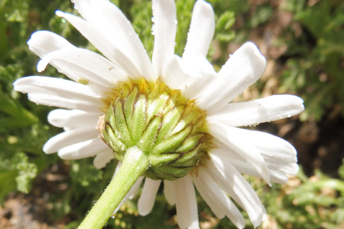
{"label": "rounded cup of overlapping green bracts with yellowish rim behind the daisy", "polygon": [[119,83],[113,95],[103,135],[118,160],[136,146],[150,162],[146,176],[172,181],[185,176],[206,155],[211,139],[206,114],[180,90],[169,89],[161,79],[155,83],[142,79]]}

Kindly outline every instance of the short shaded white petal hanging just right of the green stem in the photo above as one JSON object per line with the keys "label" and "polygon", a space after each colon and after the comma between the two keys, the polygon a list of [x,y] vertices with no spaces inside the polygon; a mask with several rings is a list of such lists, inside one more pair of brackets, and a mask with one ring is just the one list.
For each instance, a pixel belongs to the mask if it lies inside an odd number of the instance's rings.
{"label": "short shaded white petal hanging just right of the green stem", "polygon": [[148,215],[153,209],[160,183],[161,180],[154,181],[149,178],[144,181],[142,193],[137,203],[138,212],[141,216]]}

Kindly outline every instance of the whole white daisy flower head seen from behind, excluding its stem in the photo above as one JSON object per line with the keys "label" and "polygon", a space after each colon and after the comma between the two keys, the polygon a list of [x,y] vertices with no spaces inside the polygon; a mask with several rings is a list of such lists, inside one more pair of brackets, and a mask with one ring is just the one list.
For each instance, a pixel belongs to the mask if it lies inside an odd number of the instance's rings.
{"label": "whole white daisy flower head seen from behind, excluding its stem", "polygon": [[[260,225],[264,206],[241,173],[269,185],[286,183],[286,174],[298,170],[296,151],[281,138],[238,127],[299,114],[303,101],[294,95],[272,95],[231,103],[259,79],[266,60],[248,42],[216,72],[206,59],[215,30],[214,12],[203,0],[195,3],[182,57],[174,55],[174,1],[152,1],[152,60],[114,4],[106,0],[74,0],[74,4],[82,18],[56,14],[104,56],[77,48],[52,32],[38,31],[28,41],[41,58],[37,70],[51,64],[73,81],[30,76],[13,84],[32,102],[61,108],[51,111],[48,121],[64,132],[49,139],[44,152],[57,152],[67,160],[94,157],[99,169],[111,159],[126,161],[127,152],[133,160],[143,152],[147,163],[137,165],[137,170],[143,169],[138,176],[145,177],[138,201],[141,215],[153,208],[163,181],[165,197],[176,205],[182,229],[199,228],[194,186],[218,218],[227,216],[244,228],[235,201],[254,227]],[[137,194],[142,177],[122,202]]]}

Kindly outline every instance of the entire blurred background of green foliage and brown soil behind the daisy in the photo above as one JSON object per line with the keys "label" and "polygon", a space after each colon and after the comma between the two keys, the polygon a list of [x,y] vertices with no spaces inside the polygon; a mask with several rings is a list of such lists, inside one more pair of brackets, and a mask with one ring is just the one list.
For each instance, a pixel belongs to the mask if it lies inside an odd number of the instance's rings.
{"label": "entire blurred background of green foliage and brown soil behind the daisy", "polygon": [[[151,56],[151,1],[111,0],[132,22]],[[265,205],[258,229],[344,228],[344,2],[342,0],[209,0],[216,15],[208,59],[216,70],[240,45],[254,42],[267,59],[261,79],[237,101],[272,94],[304,100],[298,116],[248,127],[282,137],[298,151],[300,170],[287,184],[269,187],[245,176]],[[181,55],[194,0],[176,0],[176,54]],[[64,78],[51,66],[36,70],[39,57],[26,44],[37,30],[95,48],[56,10],[78,14],[68,0],[0,0],[0,228],[75,228],[97,200],[116,167],[97,170],[93,159],[64,161],[42,146],[62,129],[47,122],[53,107],[38,106],[13,91],[14,80],[32,75]],[[122,206],[106,228],[178,228],[175,207],[160,187],[153,211],[137,213],[137,198]],[[217,219],[198,195],[202,229],[235,228]],[[247,214],[246,228],[253,228]]]}

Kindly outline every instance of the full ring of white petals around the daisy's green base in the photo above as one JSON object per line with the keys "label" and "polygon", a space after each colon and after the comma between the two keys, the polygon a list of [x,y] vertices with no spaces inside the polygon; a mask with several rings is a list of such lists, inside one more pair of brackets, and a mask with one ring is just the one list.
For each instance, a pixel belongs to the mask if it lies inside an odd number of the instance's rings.
{"label": "full ring of white petals around the daisy's green base", "polygon": [[[178,91],[206,113],[204,133],[212,136],[212,147],[207,149],[206,157],[192,165],[191,172],[176,180],[164,180],[164,194],[170,204],[176,205],[180,228],[199,228],[194,185],[218,218],[227,216],[235,226],[244,228],[244,218],[234,200],[247,211],[254,227],[260,225],[266,214],[264,206],[240,173],[262,178],[269,185],[286,183],[286,174],[298,170],[296,151],[281,138],[238,127],[299,114],[304,109],[303,101],[293,95],[273,95],[231,103],[259,79],[266,60],[248,42],[216,72],[206,59],[215,30],[214,12],[203,0],[195,3],[182,57],[174,55],[174,1],[152,1],[152,61],[130,22],[115,5],[106,0],[74,3],[83,19],[61,11],[56,14],[77,28],[105,57],[77,48],[52,32],[38,31],[28,41],[30,50],[42,58],[37,70],[41,72],[51,64],[74,81],[30,76],[14,82],[14,89],[28,93],[31,101],[62,108],[50,112],[48,121],[65,131],[49,139],[44,152],[57,151],[67,160],[95,156],[95,167],[103,168],[114,154],[98,132],[99,125],[104,125],[99,120],[104,120],[110,104],[119,98],[115,92],[129,82],[143,80],[151,87],[163,82],[170,91]],[[126,87],[132,88],[132,84]],[[146,112],[155,115],[154,105],[151,107]],[[178,125],[184,124],[176,124],[174,131],[180,131]],[[136,195],[141,181],[126,198]],[[146,178],[138,202],[141,215],[153,208],[160,183],[161,180]]]}

